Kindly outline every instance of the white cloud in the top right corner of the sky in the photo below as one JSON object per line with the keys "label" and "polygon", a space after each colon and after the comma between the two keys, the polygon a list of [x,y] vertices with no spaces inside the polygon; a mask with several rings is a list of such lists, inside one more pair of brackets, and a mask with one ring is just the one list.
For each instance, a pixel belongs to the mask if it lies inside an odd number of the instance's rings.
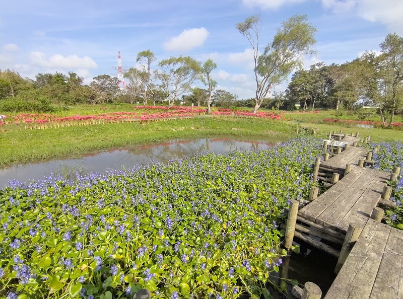
{"label": "white cloud in the top right corner of the sky", "polygon": [[371,22],[381,22],[397,34],[403,34],[403,1],[358,0],[358,15]]}

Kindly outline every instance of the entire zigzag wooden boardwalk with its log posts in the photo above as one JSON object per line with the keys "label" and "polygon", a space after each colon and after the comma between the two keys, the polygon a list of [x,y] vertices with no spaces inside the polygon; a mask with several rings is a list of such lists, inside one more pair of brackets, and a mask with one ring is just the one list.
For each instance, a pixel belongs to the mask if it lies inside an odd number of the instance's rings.
{"label": "entire zigzag wooden boardwalk with its log posts", "polygon": [[[340,142],[341,137],[331,136]],[[328,143],[324,141],[327,153]],[[383,224],[384,211],[378,207],[395,206],[389,200],[388,182],[397,178],[400,169],[388,173],[365,168],[373,163],[372,152],[356,146],[344,148],[344,152],[339,150],[340,154],[315,163],[314,177],[330,188],[317,196],[314,187],[310,202],[292,202],[285,247],[291,248],[295,236],[338,257],[334,270],[338,275],[324,299],[403,299],[403,231]],[[327,183],[329,176],[331,184]]]}

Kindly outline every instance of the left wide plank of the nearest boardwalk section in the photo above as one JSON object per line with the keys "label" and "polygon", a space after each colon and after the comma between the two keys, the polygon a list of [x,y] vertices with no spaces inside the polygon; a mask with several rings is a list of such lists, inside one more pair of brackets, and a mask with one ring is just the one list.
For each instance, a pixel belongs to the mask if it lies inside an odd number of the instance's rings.
{"label": "left wide plank of the nearest boardwalk section", "polygon": [[324,299],[368,299],[391,227],[369,219]]}

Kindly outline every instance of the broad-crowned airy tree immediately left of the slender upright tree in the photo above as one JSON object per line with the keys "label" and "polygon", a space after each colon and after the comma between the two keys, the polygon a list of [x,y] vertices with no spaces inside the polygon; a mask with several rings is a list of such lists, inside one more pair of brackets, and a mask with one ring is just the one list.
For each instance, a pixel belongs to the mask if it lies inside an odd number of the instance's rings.
{"label": "broad-crowned airy tree immediately left of the slender upright tree", "polygon": [[161,72],[158,74],[162,89],[167,95],[168,106],[171,107],[178,97],[191,88],[198,79],[201,71],[200,62],[190,56],[171,57],[158,64]]}

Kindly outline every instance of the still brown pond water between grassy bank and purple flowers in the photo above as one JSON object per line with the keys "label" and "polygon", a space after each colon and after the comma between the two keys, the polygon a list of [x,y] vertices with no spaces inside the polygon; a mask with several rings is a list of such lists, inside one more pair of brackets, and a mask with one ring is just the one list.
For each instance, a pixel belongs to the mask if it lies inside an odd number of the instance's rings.
{"label": "still brown pond water between grassy bank and purple flowers", "polygon": [[133,145],[96,152],[78,159],[59,159],[37,163],[18,164],[0,169],[0,188],[9,180],[26,182],[42,179],[51,173],[69,176],[72,173],[105,172],[105,169],[132,168],[151,162],[167,163],[183,156],[193,157],[202,152],[231,152],[234,150],[265,150],[277,142],[271,138],[218,136],[178,139],[167,142]]}

